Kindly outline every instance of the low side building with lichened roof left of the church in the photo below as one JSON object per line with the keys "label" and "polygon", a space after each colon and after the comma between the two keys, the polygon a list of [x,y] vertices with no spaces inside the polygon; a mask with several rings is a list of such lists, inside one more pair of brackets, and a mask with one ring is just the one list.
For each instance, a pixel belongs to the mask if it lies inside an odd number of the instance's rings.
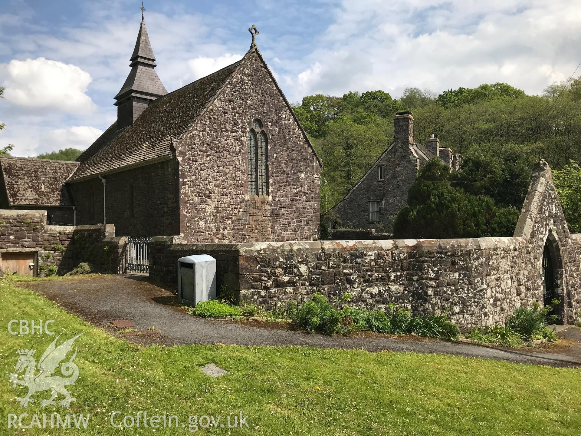
{"label": "low side building with lichened roof left of the church", "polygon": [[45,210],[49,224],[74,224],[67,178],[78,162],[0,157],[0,209]]}

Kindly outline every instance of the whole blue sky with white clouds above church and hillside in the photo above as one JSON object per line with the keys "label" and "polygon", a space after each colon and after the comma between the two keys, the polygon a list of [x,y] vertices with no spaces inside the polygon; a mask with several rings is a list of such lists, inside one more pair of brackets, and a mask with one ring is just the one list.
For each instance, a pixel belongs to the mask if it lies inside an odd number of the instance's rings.
{"label": "whole blue sky with white clouds above church and hillside", "polygon": [[[86,148],[116,117],[141,2],[4,0],[0,145],[33,156]],[[238,60],[248,27],[291,102],[505,81],[539,94],[581,60],[581,2],[310,0],[145,2],[168,91]],[[581,73],[578,73],[579,75]]]}

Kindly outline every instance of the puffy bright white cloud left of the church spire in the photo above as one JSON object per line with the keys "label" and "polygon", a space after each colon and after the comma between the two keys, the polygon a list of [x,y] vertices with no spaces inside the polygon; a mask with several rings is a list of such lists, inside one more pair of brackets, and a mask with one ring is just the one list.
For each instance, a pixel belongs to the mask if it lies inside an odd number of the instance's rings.
{"label": "puffy bright white cloud left of the church spire", "polygon": [[88,113],[95,105],[85,94],[91,76],[72,64],[45,58],[11,60],[3,67],[6,101],[33,110]]}

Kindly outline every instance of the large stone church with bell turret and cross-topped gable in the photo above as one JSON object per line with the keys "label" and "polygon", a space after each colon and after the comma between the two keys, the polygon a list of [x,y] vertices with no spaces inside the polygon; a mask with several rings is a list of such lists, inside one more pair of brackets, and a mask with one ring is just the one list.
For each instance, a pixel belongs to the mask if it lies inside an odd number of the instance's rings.
{"label": "large stone church with bell turret and cross-topped gable", "polygon": [[[49,169],[37,173],[40,159],[21,160],[20,191],[51,186],[49,206],[73,210],[59,218],[65,224],[114,224],[118,236],[316,238],[321,161],[256,46],[256,27],[249,30],[242,59],[167,92],[142,22],[114,97],[117,120],[66,169],[44,161]],[[47,173],[58,174],[50,185],[41,180]]]}

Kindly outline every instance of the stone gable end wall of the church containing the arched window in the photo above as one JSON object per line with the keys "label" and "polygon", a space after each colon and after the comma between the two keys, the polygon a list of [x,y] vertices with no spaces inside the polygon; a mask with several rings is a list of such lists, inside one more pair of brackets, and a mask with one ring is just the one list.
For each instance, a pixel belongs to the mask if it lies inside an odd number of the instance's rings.
{"label": "stone gable end wall of the church containing the arched window", "polygon": [[257,49],[175,148],[188,242],[317,236],[321,165]]}

